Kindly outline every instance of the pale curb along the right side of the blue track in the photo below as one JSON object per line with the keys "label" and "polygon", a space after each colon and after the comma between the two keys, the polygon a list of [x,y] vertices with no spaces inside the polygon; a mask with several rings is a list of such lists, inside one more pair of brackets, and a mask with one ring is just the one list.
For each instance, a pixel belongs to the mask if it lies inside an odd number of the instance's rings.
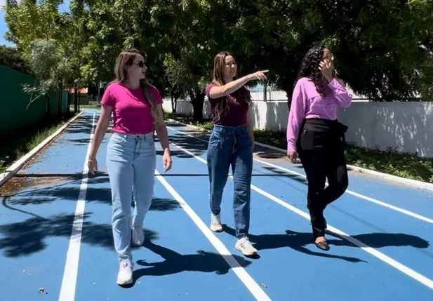
{"label": "pale curb along the right side of the blue track", "polygon": [[[185,124],[180,121],[174,120],[174,119],[167,119],[168,121],[175,122],[182,124],[184,126],[192,126],[191,124]],[[193,128],[197,128],[199,131],[205,131],[205,132],[211,132],[209,130],[206,130],[205,128],[199,128],[198,126],[192,126]],[[281,149],[279,147],[274,147],[272,145],[265,145],[264,143],[255,142],[255,145],[258,145],[260,147],[266,147],[268,149],[272,149],[277,152],[281,152],[283,154],[286,154],[286,149]],[[407,185],[409,187],[418,188],[418,189],[425,189],[433,192],[433,184],[422,182],[418,180],[412,180],[412,179],[406,179],[398,177],[397,175],[389,175],[387,173],[380,173],[375,170],[367,169],[367,168],[361,168],[358,166],[352,166],[347,165],[347,170],[356,171],[358,173],[365,173],[366,175],[372,175],[375,178],[380,178],[382,180],[387,180],[390,182],[397,182],[399,184]]]}

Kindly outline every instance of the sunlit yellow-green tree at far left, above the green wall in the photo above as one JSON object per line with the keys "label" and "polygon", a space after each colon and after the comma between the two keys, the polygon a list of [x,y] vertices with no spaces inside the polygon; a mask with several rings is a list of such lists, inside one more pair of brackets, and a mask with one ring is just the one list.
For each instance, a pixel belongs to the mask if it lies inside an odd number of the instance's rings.
{"label": "sunlit yellow-green tree at far left, above the green wall", "polygon": [[5,20],[8,24],[6,39],[15,44],[30,61],[36,76],[34,86],[25,85],[30,93],[29,105],[42,95],[46,96],[47,114],[50,114],[50,91],[58,93],[58,114],[61,114],[62,89],[71,73],[70,41],[67,40],[69,14],[59,13],[62,1],[7,1]]}

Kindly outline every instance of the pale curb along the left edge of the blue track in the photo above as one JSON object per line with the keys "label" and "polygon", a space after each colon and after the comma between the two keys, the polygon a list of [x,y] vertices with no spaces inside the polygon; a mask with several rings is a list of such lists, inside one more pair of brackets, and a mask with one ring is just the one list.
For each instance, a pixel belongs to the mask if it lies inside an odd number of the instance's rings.
{"label": "pale curb along the left edge of the blue track", "polygon": [[25,163],[27,163],[30,159],[34,157],[42,148],[44,148],[46,145],[48,145],[49,142],[51,142],[54,138],[56,138],[62,131],[69,126],[73,121],[79,118],[84,112],[81,111],[79,114],[77,114],[74,118],[69,119],[67,123],[65,123],[61,128],[59,128],[57,131],[55,131],[53,134],[48,136],[44,141],[39,143],[39,145],[36,145],[34,149],[32,149],[30,152],[22,156],[20,159],[12,163],[11,166],[6,168],[6,172],[0,173],[0,186],[4,185],[9,179],[15,175],[15,173],[18,173],[18,171],[24,166]]}

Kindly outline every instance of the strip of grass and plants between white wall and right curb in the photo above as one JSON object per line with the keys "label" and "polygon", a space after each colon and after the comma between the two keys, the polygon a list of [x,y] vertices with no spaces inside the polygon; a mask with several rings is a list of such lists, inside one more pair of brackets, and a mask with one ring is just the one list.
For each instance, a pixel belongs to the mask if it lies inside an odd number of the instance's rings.
{"label": "strip of grass and plants between white wall and right curb", "polygon": [[[166,114],[166,118],[176,119],[180,122],[199,126],[211,130],[212,121],[193,121],[191,116],[175,116]],[[272,131],[254,131],[257,142],[286,149],[286,133]],[[380,149],[365,149],[348,145],[346,149],[347,164],[375,170],[380,173],[397,175],[401,178],[420,180],[433,183],[433,159],[420,158],[415,154],[399,153],[394,149],[382,151]]]}

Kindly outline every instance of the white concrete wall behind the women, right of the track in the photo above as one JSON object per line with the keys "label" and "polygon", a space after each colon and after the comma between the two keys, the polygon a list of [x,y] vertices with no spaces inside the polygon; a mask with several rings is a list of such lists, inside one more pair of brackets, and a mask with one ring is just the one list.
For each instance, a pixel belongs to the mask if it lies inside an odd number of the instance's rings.
{"label": "white concrete wall behind the women, right of the track", "polygon": [[[171,112],[170,100],[164,109]],[[282,101],[253,101],[255,128],[267,131],[286,131],[288,106]],[[178,114],[192,114],[189,101],[178,101]],[[204,118],[210,116],[205,100]],[[347,142],[367,148],[418,153],[433,157],[433,102],[366,102],[354,100],[340,111],[338,119],[349,126]]]}

